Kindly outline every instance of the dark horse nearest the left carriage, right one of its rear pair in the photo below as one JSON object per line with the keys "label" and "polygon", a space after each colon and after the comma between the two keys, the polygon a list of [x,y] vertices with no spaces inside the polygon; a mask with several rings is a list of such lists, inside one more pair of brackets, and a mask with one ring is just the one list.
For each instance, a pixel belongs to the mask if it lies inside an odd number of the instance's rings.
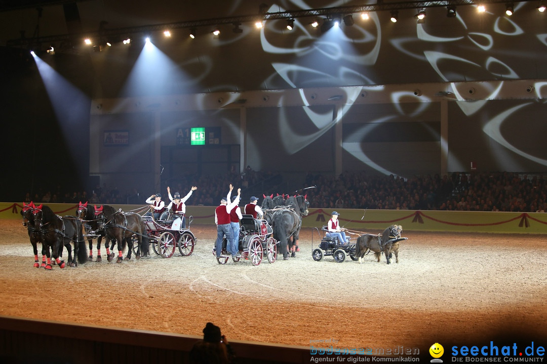
{"label": "dark horse nearest the left carriage, right one of its rear pair", "polygon": [[[144,226],[141,215],[135,212],[116,211],[109,219],[106,219],[104,217],[103,209],[101,208],[99,211],[99,215],[102,214],[103,216],[98,222],[98,227],[100,229],[104,228],[107,240],[115,240],[118,244],[118,259],[116,260],[117,263],[121,263],[124,260],[131,259],[131,252],[133,250],[132,237],[134,235],[137,236],[138,244],[135,258],[138,260],[141,259],[141,255],[147,256],[149,254],[150,240],[147,235],[146,226]],[[126,245],[129,247],[129,249],[127,252],[127,256],[123,258],[123,251]],[[111,258],[108,259],[108,261],[111,260]]]}

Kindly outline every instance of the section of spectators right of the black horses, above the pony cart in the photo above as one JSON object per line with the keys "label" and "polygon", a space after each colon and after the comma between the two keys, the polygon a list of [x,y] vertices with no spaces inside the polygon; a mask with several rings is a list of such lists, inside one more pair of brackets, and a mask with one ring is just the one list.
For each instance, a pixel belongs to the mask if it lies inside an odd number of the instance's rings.
{"label": "section of spectators right of the black horses, above the pony cart", "polygon": [[543,176],[513,172],[452,173],[411,178],[344,172],[308,174],[310,206],[388,210],[547,211]]}

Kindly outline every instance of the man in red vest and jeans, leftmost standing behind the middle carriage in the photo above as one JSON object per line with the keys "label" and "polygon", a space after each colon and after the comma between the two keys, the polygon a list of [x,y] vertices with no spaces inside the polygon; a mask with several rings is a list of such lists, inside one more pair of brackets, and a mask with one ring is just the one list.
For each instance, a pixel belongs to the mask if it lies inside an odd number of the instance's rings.
{"label": "man in red vest and jeans, leftmost standing behind the middle carriage", "polygon": [[234,230],[232,230],[232,226],[230,225],[230,212],[239,204],[241,188],[237,189],[237,196],[234,202],[228,204],[232,189],[234,189],[234,186],[230,183],[230,192],[228,192],[228,196],[222,198],[222,200],[220,200],[220,205],[214,210],[214,223],[217,224],[217,241],[215,242],[215,246],[217,249],[217,261],[219,264],[220,255],[222,254],[222,239],[224,236],[226,236],[226,250],[228,250],[228,253],[232,254],[232,257],[234,258],[241,257],[239,249],[234,249]]}

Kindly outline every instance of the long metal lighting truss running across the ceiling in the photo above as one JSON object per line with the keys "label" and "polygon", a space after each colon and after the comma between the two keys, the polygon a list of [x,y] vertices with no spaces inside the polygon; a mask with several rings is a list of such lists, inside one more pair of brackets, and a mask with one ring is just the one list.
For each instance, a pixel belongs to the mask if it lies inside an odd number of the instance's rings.
{"label": "long metal lighting truss running across the ceiling", "polygon": [[[384,3],[383,0],[378,0],[376,4],[358,5],[358,6],[346,6],[346,7],[333,7],[333,8],[319,8],[319,9],[305,9],[305,10],[287,10],[279,11],[277,13],[264,13],[257,15],[241,15],[230,17],[218,17],[213,19],[191,20],[191,21],[179,21],[171,23],[143,25],[137,27],[125,27],[115,29],[99,29],[92,32],[82,32],[79,34],[59,34],[48,35],[45,37],[37,38],[19,38],[11,39],[7,41],[8,46],[22,46],[31,47],[42,43],[55,43],[63,41],[78,41],[84,38],[91,38],[95,40],[106,39],[108,37],[129,37],[132,34],[152,33],[157,31],[164,31],[166,29],[181,29],[181,28],[199,28],[199,27],[216,27],[220,25],[236,24],[236,23],[249,23],[255,21],[268,21],[279,19],[296,19],[301,17],[323,17],[330,19],[336,15],[358,14],[364,11],[386,11],[386,10],[404,10],[404,9],[425,9],[425,8],[439,8],[439,7],[461,7],[465,5],[477,5],[477,4],[507,4],[511,2],[537,2],[539,0],[440,0],[440,1],[410,1],[410,2],[390,2]],[[211,29],[212,30],[212,29]]]}

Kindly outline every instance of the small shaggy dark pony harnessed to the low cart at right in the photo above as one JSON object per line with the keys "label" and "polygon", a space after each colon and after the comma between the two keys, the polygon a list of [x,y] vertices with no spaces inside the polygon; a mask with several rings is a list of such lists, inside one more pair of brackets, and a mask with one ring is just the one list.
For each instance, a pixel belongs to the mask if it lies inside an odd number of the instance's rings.
{"label": "small shaggy dark pony harnessed to the low cart at right", "polygon": [[382,252],[386,254],[387,264],[390,264],[390,259],[395,254],[395,262],[399,262],[399,240],[403,226],[391,225],[382,232],[381,235],[363,234],[357,238],[355,244],[355,256],[359,259],[359,264],[362,263],[363,256],[368,252],[374,252],[377,262],[380,262]]}

